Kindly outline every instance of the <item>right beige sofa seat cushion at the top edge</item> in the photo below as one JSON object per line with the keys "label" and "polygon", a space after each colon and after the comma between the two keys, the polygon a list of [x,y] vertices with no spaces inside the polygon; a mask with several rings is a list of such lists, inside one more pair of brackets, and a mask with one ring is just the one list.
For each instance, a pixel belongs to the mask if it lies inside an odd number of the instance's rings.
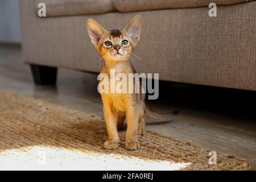
{"label": "right beige sofa seat cushion at the top edge", "polygon": [[232,5],[246,2],[246,0],[113,0],[113,2],[115,8],[118,11],[129,12],[184,7],[201,7],[208,6],[209,3],[212,2],[216,3],[216,5]]}

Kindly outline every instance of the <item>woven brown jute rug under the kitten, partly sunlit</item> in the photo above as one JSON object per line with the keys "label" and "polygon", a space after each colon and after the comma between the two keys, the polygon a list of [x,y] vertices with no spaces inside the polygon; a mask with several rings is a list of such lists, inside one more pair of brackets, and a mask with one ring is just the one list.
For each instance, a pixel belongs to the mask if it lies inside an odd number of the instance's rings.
{"label": "woven brown jute rug under the kitten, partly sunlit", "polygon": [[105,150],[103,118],[0,89],[0,169],[248,170],[246,159],[147,131],[141,150]]}

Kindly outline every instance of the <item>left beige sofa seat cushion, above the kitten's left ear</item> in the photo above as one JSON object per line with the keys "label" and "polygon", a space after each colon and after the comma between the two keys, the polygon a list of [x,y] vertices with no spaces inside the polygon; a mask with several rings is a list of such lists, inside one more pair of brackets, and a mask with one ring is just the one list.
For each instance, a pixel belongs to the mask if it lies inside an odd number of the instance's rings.
{"label": "left beige sofa seat cushion, above the kitten's left ear", "polygon": [[46,16],[100,14],[115,11],[112,0],[36,0],[46,4]]}

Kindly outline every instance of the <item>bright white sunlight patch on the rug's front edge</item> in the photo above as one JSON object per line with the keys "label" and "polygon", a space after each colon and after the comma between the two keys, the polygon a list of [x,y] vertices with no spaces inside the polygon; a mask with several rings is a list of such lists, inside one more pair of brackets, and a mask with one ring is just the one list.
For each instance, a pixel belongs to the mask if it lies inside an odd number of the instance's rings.
{"label": "bright white sunlight patch on the rug's front edge", "polygon": [[32,146],[0,152],[0,170],[179,170],[190,163],[142,160],[65,148]]}

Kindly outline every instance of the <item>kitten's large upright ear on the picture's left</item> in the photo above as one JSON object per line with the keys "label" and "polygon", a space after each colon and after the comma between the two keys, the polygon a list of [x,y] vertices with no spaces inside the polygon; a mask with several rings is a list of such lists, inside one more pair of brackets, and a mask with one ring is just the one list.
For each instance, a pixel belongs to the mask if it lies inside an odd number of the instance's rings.
{"label": "kitten's large upright ear on the picture's left", "polygon": [[93,19],[87,19],[86,27],[92,43],[97,46],[106,30]]}

